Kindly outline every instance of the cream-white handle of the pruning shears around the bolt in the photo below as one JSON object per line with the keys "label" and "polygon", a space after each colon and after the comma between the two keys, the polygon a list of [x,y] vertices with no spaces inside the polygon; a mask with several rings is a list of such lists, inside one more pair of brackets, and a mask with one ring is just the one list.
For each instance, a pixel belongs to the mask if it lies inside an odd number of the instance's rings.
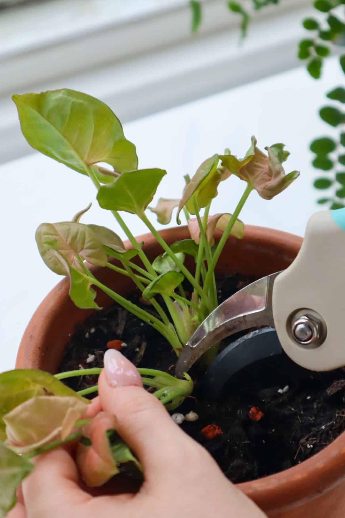
{"label": "cream-white handle of the pruning shears around the bolt", "polygon": [[[318,371],[345,365],[345,209],[312,215],[295,261],[275,280],[272,304],[281,346],[295,363]],[[312,349],[291,333],[293,316],[305,309],[325,324]]]}

